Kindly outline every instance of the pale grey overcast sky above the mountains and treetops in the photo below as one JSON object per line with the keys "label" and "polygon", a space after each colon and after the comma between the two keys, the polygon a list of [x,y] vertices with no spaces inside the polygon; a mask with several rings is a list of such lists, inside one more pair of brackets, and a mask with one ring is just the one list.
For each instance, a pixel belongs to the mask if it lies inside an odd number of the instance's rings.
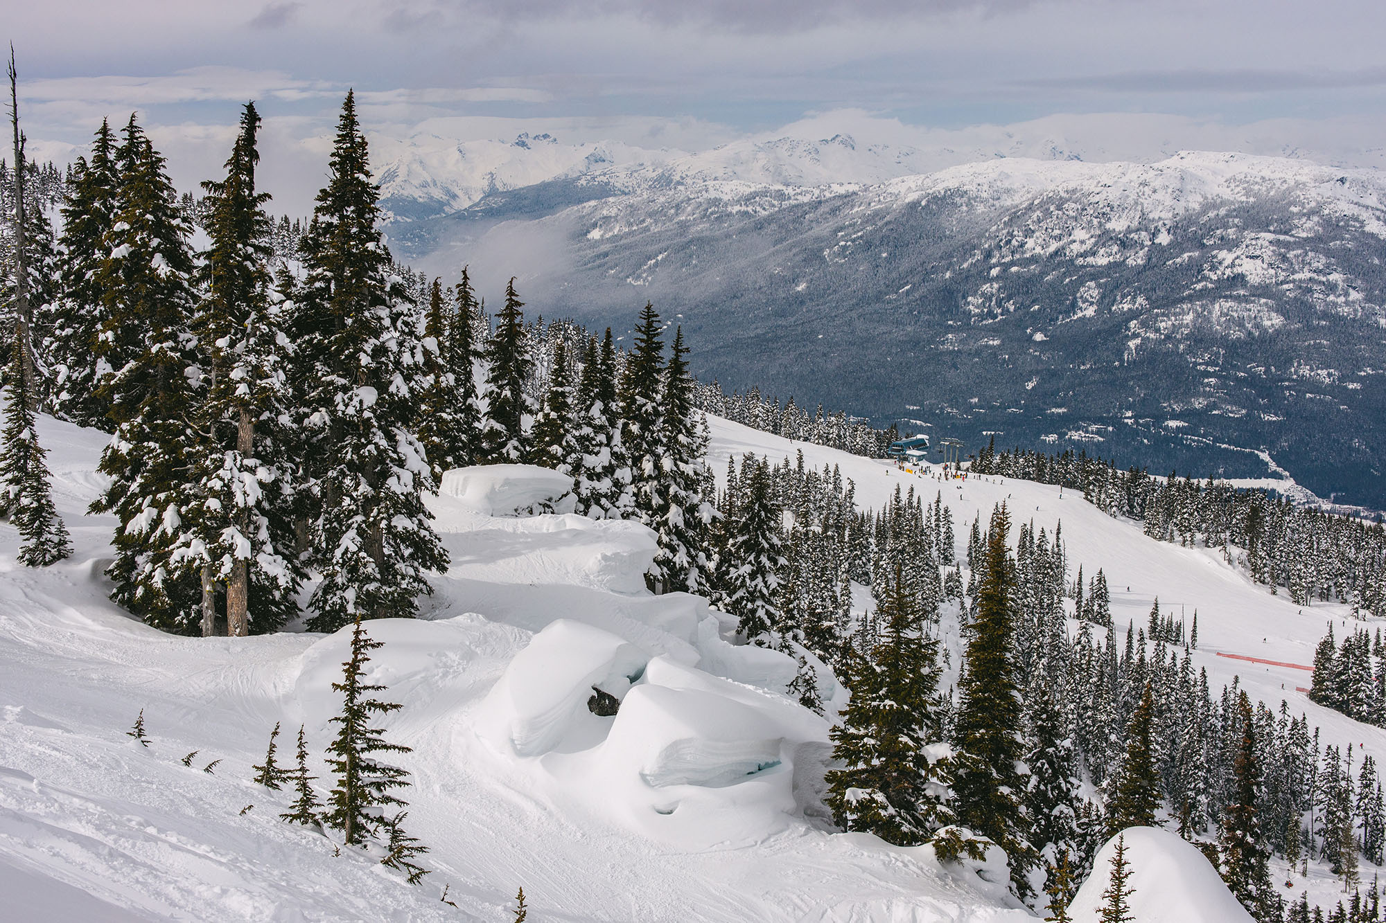
{"label": "pale grey overcast sky above the mountains and treetops", "polygon": [[255,98],[287,206],[320,180],[348,86],[381,141],[554,126],[699,150],[854,109],[936,130],[1084,116],[1128,147],[1149,125],[1160,146],[1386,150],[1379,0],[10,0],[6,25],[37,155],[139,109],[187,186]]}

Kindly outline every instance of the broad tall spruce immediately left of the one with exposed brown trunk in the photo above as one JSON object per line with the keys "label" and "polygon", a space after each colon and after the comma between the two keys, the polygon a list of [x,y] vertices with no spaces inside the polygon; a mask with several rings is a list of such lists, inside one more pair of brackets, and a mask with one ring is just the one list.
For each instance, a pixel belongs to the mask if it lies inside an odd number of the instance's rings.
{"label": "broad tall spruce immediately left of the one with exposed brown trunk", "polygon": [[194,294],[190,227],[164,172],[164,158],[130,116],[116,154],[115,223],[96,273],[101,299],[96,398],[115,424],[101,456],[109,486],[93,503],[115,513],[111,599],[147,624],[195,633],[201,579],[175,560],[184,538],[198,388],[191,331]]}

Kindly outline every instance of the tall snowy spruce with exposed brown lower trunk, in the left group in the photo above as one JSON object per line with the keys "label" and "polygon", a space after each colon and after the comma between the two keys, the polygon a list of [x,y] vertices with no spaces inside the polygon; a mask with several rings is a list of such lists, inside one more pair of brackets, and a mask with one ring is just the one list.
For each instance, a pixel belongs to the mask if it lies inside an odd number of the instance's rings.
{"label": "tall snowy spruce with exposed brown lower trunk, in the left group", "polygon": [[255,104],[247,103],[226,179],[202,183],[212,247],[193,328],[205,359],[205,399],[184,504],[190,528],[175,556],[201,568],[204,635],[215,624],[215,586],[225,585],[233,638],[274,631],[295,617],[304,578],[292,547],[294,464],[281,423],[291,356],[283,297],[269,272],[269,193],[255,190],[259,126]]}

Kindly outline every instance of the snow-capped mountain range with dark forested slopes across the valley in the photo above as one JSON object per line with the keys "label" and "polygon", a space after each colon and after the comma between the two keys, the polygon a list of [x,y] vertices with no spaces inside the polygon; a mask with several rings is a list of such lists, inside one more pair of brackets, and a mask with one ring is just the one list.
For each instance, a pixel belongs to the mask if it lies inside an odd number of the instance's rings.
{"label": "snow-capped mountain range with dark forested slopes across the valley", "polygon": [[383,170],[414,216],[389,229],[405,259],[491,269],[484,290],[518,274],[531,310],[618,333],[653,299],[729,388],[1160,473],[1260,477],[1268,453],[1386,507],[1375,169],[1053,144],[979,161],[841,133],[485,150]]}

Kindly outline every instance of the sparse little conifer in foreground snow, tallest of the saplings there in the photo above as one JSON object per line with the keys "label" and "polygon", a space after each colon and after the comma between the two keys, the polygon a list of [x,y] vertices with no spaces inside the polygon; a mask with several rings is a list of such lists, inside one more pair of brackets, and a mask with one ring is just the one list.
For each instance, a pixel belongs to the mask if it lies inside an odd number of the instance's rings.
{"label": "sparse little conifer in foreground snow, tallest of the saplings there", "polygon": [[342,711],[331,719],[340,729],[327,747],[327,765],[337,784],[326,820],[342,832],[346,845],[365,843],[367,836],[385,825],[380,808],[407,807],[394,790],[409,784],[409,772],[374,758],[381,753],[410,753],[409,747],[387,741],[384,729],[370,726],[373,715],[388,715],[401,708],[398,703],[373,697],[373,693],[384,692],[384,686],[362,682],[370,651],[377,647],[384,647],[384,643],[366,635],[358,618],[352,628],[351,657],[342,662],[342,682],[333,683],[333,692],[342,693]]}

